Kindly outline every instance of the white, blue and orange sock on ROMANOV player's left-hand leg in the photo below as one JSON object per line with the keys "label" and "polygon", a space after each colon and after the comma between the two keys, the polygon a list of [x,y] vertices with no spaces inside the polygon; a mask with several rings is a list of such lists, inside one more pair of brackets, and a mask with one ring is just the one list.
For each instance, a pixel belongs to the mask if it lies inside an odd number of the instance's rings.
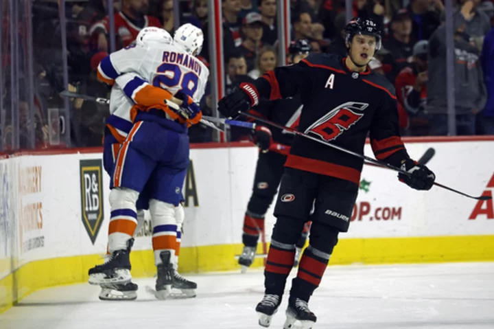
{"label": "white, blue and orange sock on ROMANOV player's left-hand leg", "polygon": [[108,253],[127,249],[127,241],[137,227],[135,203],[139,192],[128,188],[114,188],[110,192],[110,225],[108,226]]}

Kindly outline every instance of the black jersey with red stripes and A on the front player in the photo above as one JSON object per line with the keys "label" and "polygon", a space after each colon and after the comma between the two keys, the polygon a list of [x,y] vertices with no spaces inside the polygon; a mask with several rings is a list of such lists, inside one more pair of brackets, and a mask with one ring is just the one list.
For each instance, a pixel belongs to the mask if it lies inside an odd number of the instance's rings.
{"label": "black jersey with red stripes and A on the front player", "polygon": [[[350,71],[344,58],[311,54],[296,65],[277,67],[255,81],[261,98],[301,97],[298,131],[363,154],[367,135],[375,157],[399,166],[408,153],[399,135],[392,84],[369,69]],[[363,160],[296,136],[285,166],[360,182]]]}

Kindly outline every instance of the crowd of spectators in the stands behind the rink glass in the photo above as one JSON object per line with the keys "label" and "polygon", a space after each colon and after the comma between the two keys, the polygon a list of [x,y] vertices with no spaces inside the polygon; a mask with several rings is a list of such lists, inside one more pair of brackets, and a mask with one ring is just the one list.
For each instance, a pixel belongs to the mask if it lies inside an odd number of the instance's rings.
{"label": "crowd of spectators in the stands behind the rink glass", "polygon": [[[279,63],[277,56],[278,1],[222,0],[226,93],[240,82],[258,78],[277,65],[289,64]],[[344,0],[288,1],[292,40],[306,39],[311,52],[346,56]],[[49,135],[49,122],[45,119],[48,109],[63,108],[58,95],[63,89],[63,27],[58,3],[33,0],[32,5],[37,146],[45,145],[43,140]],[[66,1],[64,8],[69,89],[103,98],[108,97],[108,88],[97,81],[95,70],[110,52],[110,45],[115,44],[116,50],[126,47],[145,26],[163,27],[172,34],[178,26],[172,0],[115,0],[113,8],[107,8],[107,3]],[[180,0],[178,4],[180,23],[192,23],[204,31],[204,47],[199,57],[209,65],[209,49],[214,44],[208,33],[208,1]],[[370,67],[395,85],[405,136],[448,132],[444,6],[443,0],[353,0],[353,16],[373,19],[381,28],[383,47]],[[110,40],[108,10],[115,12],[115,40]],[[457,135],[494,135],[493,15],[490,0],[454,0]],[[8,16],[4,14],[2,19],[5,26]],[[8,41],[8,36],[2,38],[2,43]],[[8,56],[2,54],[2,58],[3,67],[8,67]],[[3,88],[8,86],[3,84]],[[109,115],[107,106],[79,99],[71,99],[70,106],[71,122],[66,124],[72,127],[73,146],[101,145],[104,120]],[[211,86],[207,87],[201,107],[204,114],[211,115]],[[8,115],[5,120],[8,121]],[[21,122],[20,128],[29,130],[32,125]],[[212,140],[211,128],[204,126],[194,126],[189,134],[192,142]],[[3,139],[7,136],[2,132]]]}

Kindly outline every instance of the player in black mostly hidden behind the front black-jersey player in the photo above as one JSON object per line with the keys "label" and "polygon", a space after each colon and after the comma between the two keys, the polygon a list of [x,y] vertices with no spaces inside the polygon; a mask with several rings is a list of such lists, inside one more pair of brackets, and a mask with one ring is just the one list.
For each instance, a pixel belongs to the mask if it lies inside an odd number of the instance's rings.
{"label": "player in black mostly hidden behind the front black-jersey player", "polygon": [[[304,39],[292,41],[288,47],[288,59],[290,63],[298,63],[303,58],[306,58],[310,51],[311,45],[309,41]],[[260,117],[266,117],[266,119],[279,124],[296,128],[301,110],[302,102],[300,95],[295,95],[293,98],[287,99],[261,100],[259,105],[250,109],[249,112]],[[243,272],[254,261],[259,235],[264,232],[264,216],[268,212],[274,196],[277,194],[278,185],[283,174],[283,164],[285,164],[286,156],[290,152],[293,137],[294,135],[287,131],[274,130],[271,132],[268,127],[259,125],[255,131],[255,141],[263,138],[268,141],[270,147],[267,149],[268,152],[259,152],[252,195],[250,196],[244,216],[242,234],[244,249],[238,261],[242,265]],[[270,143],[270,141],[272,142]],[[297,265],[300,259],[301,250],[305,245],[307,234],[307,229],[304,229],[301,238],[296,243],[294,266]],[[266,251],[264,252],[266,253]]]}

